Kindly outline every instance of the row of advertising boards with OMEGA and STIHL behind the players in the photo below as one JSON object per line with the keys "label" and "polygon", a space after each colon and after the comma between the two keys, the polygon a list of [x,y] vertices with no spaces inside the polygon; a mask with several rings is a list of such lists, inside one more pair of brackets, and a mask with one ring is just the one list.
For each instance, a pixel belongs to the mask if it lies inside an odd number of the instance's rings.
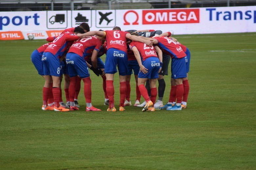
{"label": "row of advertising boards with OMEGA and STIHL behind the players", "polygon": [[0,40],[45,39],[88,23],[91,30],[155,29],[179,34],[256,32],[256,6],[0,12]]}

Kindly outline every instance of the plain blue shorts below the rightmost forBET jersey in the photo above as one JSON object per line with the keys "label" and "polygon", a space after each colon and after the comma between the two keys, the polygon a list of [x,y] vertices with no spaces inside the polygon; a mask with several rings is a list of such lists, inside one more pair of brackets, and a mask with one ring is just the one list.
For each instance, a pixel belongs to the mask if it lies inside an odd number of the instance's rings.
{"label": "plain blue shorts below the rightmost forBET jersey", "polygon": [[186,57],[180,59],[172,58],[172,78],[177,79],[187,77],[186,59]]}

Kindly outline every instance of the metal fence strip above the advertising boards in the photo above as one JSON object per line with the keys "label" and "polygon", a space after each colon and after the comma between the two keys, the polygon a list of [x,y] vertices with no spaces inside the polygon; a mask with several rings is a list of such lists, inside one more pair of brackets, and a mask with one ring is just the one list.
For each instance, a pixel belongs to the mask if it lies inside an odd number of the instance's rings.
{"label": "metal fence strip above the advertising boards", "polygon": [[256,6],[256,0],[0,0],[0,11]]}

